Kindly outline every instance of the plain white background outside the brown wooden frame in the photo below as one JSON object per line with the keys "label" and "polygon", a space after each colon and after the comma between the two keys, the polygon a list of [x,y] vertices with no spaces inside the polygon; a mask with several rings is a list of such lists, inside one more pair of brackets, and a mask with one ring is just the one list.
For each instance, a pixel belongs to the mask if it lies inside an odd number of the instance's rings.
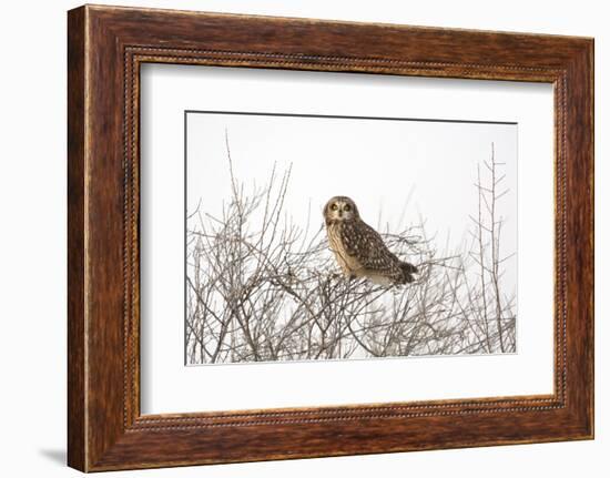
{"label": "plain white background outside the brown wooden frame", "polygon": [[[207,468],[118,472],[116,476],[285,477],[606,476],[610,467],[608,344],[604,324],[610,255],[608,135],[610,32],[604,2],[488,1],[397,2],[392,0],[131,1],[121,4],[193,10],[385,21],[437,27],[530,31],[596,37],[597,150],[597,439],[365,457],[326,458]],[[0,19],[0,318],[4,476],[78,476],[65,454],[65,10],[78,3],[10,2]],[[32,140],[32,136],[34,138]],[[606,269],[606,271],[604,271]],[[604,348],[606,347],[606,348]]]}

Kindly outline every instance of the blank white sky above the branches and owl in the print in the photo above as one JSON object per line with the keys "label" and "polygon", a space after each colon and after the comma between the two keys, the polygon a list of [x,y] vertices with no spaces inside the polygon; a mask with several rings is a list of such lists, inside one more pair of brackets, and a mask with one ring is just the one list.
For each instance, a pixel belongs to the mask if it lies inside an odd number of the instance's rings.
{"label": "blank white sky above the branches and owl in the print", "polygon": [[[498,204],[505,220],[501,252],[517,250],[517,125],[397,120],[187,113],[187,211],[220,215],[231,194],[225,130],[236,176],[246,185],[267,181],[274,163],[292,164],[285,211],[305,226],[311,201],[312,230],[334,195],[350,196],[365,222],[398,232],[419,214],[443,250],[459,247],[477,212],[477,164],[506,163],[510,192]],[[407,200],[410,201],[407,204]],[[407,207],[405,209],[405,205]],[[399,224],[404,212],[404,223]],[[314,232],[314,231],[312,231]],[[516,286],[516,257],[507,262],[505,286]],[[512,271],[511,271],[512,269]],[[508,293],[509,291],[507,291]]]}

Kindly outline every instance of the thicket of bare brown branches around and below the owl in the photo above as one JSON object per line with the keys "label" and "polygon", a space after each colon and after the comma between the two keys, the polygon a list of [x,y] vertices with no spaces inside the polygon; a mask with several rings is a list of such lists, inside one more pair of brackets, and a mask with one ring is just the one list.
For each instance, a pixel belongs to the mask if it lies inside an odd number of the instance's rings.
{"label": "thicket of bare brown branches around and below the owl", "polygon": [[289,170],[246,191],[228,144],[227,155],[222,214],[197,207],[187,218],[189,364],[515,352],[516,297],[501,288],[508,257],[497,213],[507,190],[494,153],[478,171],[466,251],[437,251],[424,222],[382,233],[419,268],[416,282],[390,288],[339,274],[317,210],[305,226],[292,222]]}

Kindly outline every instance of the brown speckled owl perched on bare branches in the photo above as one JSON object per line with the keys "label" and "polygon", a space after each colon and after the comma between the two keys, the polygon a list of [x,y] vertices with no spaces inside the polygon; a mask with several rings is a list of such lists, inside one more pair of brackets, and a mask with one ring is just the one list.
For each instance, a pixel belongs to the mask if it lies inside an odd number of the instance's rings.
{"label": "brown speckled owl perched on bare branches", "polygon": [[331,199],[323,214],[328,244],[346,277],[366,277],[384,286],[414,281],[417,267],[389,252],[379,233],[360,218],[349,197]]}

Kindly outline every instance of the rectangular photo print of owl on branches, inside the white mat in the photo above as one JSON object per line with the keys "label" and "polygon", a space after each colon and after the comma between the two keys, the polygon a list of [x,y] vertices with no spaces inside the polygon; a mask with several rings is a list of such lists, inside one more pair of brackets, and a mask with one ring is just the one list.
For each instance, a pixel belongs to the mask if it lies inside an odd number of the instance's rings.
{"label": "rectangular photo print of owl on branches, inside the white mat", "polygon": [[516,353],[516,123],[184,118],[186,365]]}

